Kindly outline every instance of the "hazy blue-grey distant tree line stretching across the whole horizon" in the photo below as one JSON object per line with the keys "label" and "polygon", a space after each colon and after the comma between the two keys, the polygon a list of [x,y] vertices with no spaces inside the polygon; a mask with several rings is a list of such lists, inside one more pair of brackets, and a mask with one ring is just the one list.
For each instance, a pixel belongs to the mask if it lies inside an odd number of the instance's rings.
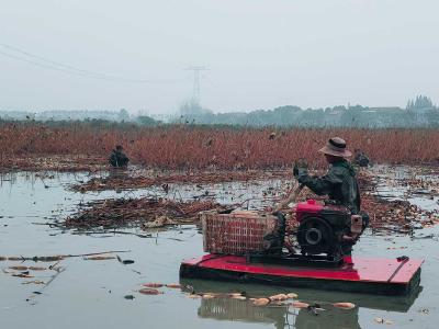
{"label": "hazy blue-grey distant tree line stretching across the whole horizon", "polygon": [[[92,126],[120,123],[139,126],[155,126],[164,121],[145,114],[130,115],[122,109],[111,111],[43,111],[40,113],[0,111],[0,121],[40,121],[68,124],[85,122]],[[290,127],[439,127],[439,109],[431,99],[418,95],[407,102],[405,109],[369,107],[362,105],[339,105],[326,109],[301,109],[294,105],[251,112],[213,113],[194,101],[180,106],[180,113],[165,123],[184,125],[227,126],[290,126]]]}

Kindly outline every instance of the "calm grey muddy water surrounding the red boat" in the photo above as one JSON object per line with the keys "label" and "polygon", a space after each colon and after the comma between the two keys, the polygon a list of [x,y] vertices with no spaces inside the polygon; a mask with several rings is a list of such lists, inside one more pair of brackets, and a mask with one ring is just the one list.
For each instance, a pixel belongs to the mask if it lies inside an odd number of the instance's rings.
{"label": "calm grey muddy water surrounding the red boat", "polygon": [[[104,232],[78,235],[48,225],[75,211],[78,204],[110,196],[161,195],[160,189],[79,194],[68,191],[83,175],[55,174],[36,178],[15,174],[0,180],[0,256],[79,254],[109,250],[122,259],[134,260],[124,265],[116,260],[86,261],[82,258],[63,260],[64,269],[31,271],[32,279],[0,272],[0,328],[381,328],[374,318],[392,320],[394,328],[437,328],[439,321],[439,254],[436,238],[414,239],[398,236],[365,235],[354,253],[368,256],[425,258],[423,291],[409,298],[329,293],[309,290],[243,285],[206,281],[189,281],[198,291],[246,291],[252,296],[295,292],[301,300],[318,302],[325,311],[318,316],[305,309],[285,307],[252,307],[246,300],[189,299],[184,292],[162,288],[164,294],[138,294],[143,283],[179,282],[182,259],[202,253],[202,237],[196,227],[184,226],[151,231],[150,238]],[[283,182],[260,184],[226,183],[214,186],[171,186],[168,197],[217,197],[222,202],[251,201],[249,207],[260,207],[262,194],[272,193]],[[269,189],[272,188],[272,189]],[[205,195],[207,189],[209,195]],[[427,202],[421,197],[414,202]],[[247,204],[244,203],[244,204]],[[431,201],[429,201],[429,204]],[[125,230],[130,232],[130,230]],[[417,236],[437,235],[437,228],[417,230]],[[19,262],[0,261],[7,270]],[[25,265],[35,263],[25,262]],[[37,266],[52,263],[38,262]],[[53,275],[56,274],[55,279]],[[22,284],[41,280],[46,285]],[[35,294],[34,292],[38,293]],[[134,299],[125,299],[132,295]],[[335,309],[334,302],[352,302],[359,307]]]}

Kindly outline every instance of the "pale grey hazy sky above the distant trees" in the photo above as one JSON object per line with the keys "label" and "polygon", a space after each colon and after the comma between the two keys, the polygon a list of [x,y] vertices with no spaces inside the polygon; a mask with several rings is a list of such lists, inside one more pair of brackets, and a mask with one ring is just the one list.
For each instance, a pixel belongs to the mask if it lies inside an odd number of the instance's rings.
{"label": "pale grey hazy sky above the distant trees", "polygon": [[3,0],[0,29],[2,110],[169,113],[191,65],[215,112],[439,102],[438,0]]}

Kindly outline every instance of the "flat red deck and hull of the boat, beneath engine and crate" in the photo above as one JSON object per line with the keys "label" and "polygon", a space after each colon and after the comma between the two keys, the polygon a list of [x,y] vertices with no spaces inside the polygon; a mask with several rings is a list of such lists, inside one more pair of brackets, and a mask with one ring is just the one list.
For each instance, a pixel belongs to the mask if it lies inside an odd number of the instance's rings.
{"label": "flat red deck and hull of the boat, beneath engine and crate", "polygon": [[[424,260],[352,257],[339,268],[249,263],[245,257],[206,254],[181,263],[185,277],[261,282],[350,292],[408,294],[419,283]],[[373,291],[371,291],[373,288]]]}

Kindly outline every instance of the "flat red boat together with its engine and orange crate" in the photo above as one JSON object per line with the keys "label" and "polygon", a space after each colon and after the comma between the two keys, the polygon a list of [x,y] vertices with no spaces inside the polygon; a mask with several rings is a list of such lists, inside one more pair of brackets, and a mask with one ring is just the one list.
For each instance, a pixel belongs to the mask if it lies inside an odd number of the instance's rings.
{"label": "flat red boat together with its engine and orange crate", "polygon": [[423,260],[351,257],[369,217],[315,201],[295,207],[301,253],[285,253],[285,218],[237,212],[202,216],[204,251],[184,260],[182,277],[228,280],[345,292],[407,295]]}

